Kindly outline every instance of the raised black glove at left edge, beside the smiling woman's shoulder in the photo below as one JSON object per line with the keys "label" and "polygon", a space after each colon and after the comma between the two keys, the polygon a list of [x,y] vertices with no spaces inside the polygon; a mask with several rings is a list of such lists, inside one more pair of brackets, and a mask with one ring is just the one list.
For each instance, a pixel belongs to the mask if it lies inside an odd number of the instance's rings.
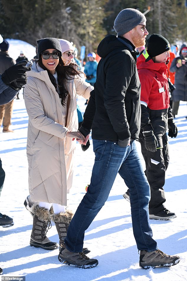
{"label": "raised black glove at left edge, beside the smiling woman's shoulder", "polygon": [[[22,85],[25,85],[27,83],[26,71],[31,70],[30,67],[25,66],[26,64],[27,64],[27,61],[20,61],[19,63],[6,69],[5,72],[1,75],[2,76],[1,78],[2,78],[2,81],[4,82],[4,84],[9,85],[12,82],[16,82],[16,86],[19,86],[17,88],[20,88],[20,87],[22,87]],[[17,85],[17,83],[19,85]],[[12,86],[15,87],[15,85],[12,85]]]}

